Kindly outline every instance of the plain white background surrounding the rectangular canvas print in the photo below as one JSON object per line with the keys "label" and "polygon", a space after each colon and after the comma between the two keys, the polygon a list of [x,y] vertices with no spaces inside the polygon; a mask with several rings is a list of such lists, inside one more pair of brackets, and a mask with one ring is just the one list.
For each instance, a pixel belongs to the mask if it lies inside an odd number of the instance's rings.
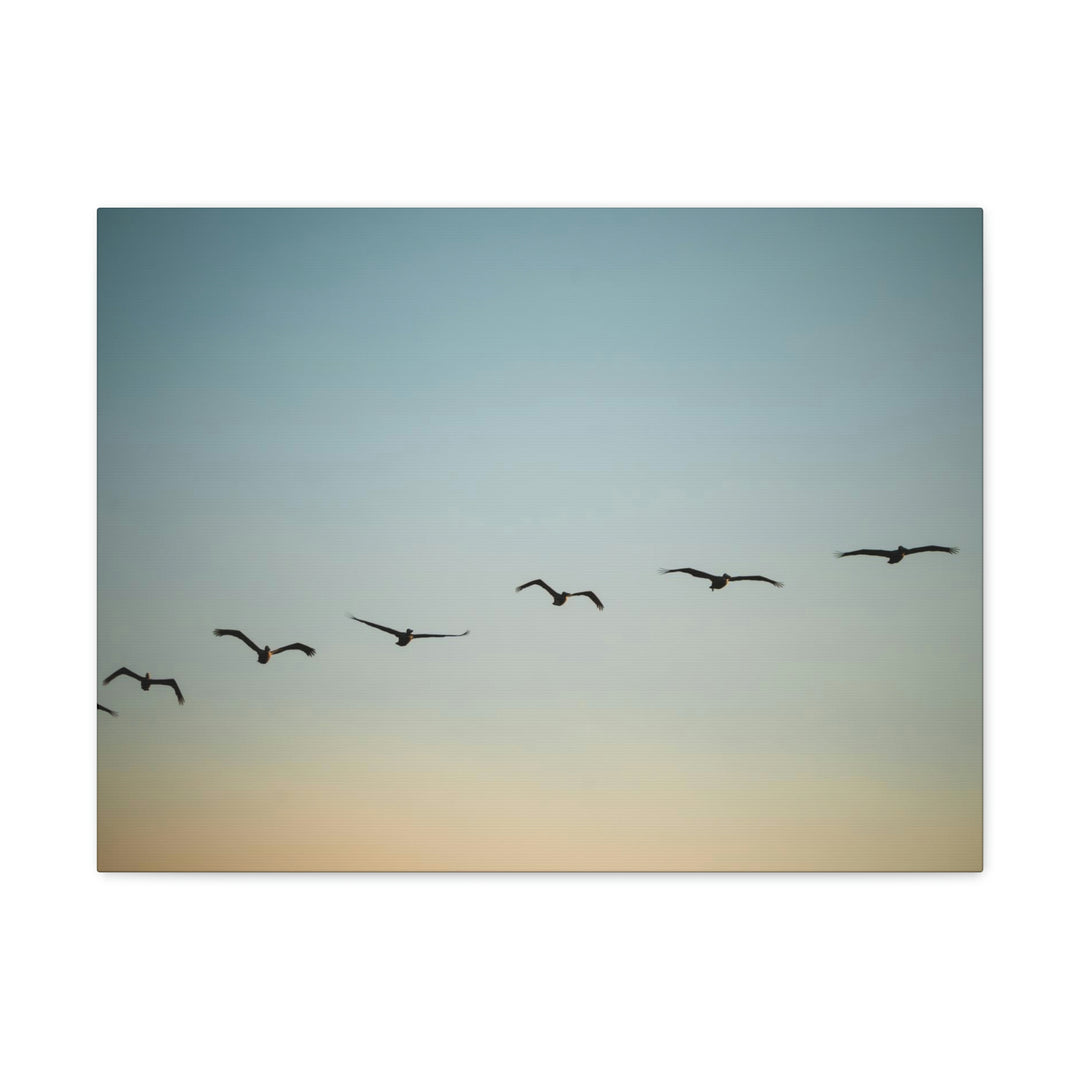
{"label": "plain white background surrounding the rectangular canvas print", "polygon": [[[0,65],[18,1077],[1059,1076],[1075,1022],[1064,4],[22,8]],[[986,211],[982,875],[98,875],[98,205]]]}

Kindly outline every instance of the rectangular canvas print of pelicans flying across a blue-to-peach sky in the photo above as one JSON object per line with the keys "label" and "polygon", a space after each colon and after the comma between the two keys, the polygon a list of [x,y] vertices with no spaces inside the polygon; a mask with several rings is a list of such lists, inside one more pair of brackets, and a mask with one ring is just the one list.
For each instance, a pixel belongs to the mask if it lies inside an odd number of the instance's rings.
{"label": "rectangular canvas print of pelicans flying across a blue-to-peach sky", "polygon": [[982,213],[98,212],[102,870],[978,870]]}

